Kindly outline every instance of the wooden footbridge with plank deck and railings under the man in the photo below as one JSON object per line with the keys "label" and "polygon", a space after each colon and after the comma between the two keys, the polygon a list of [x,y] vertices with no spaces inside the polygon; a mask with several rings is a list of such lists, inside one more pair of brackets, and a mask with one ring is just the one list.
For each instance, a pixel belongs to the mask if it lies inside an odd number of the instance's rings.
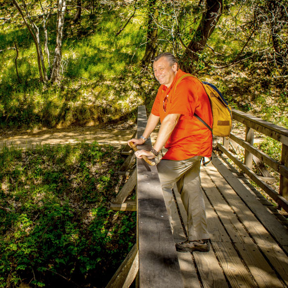
{"label": "wooden footbridge with plank deck and railings under the man", "polygon": [[[108,288],[129,287],[133,282],[140,288],[288,287],[288,130],[236,110],[233,120],[246,126],[245,139],[231,134],[230,139],[217,144],[224,154],[213,155],[212,163],[201,167],[209,252],[176,252],[174,243],[187,237],[180,195],[175,188],[172,234],[156,166],[137,159],[136,169],[129,171],[135,156],[133,152],[128,155],[121,173],[130,176],[111,207],[137,210],[137,243]],[[141,106],[136,136],[142,135],[146,121],[146,110]],[[282,143],[281,163],[253,146],[254,131]],[[231,152],[238,145],[245,149],[244,163]],[[150,147],[149,139],[139,149]],[[123,153],[129,153],[127,147]],[[252,162],[258,167],[257,173]],[[264,163],[279,173],[279,192],[267,184],[275,178]],[[135,185],[137,200],[129,200]],[[267,194],[277,206],[263,196]]]}

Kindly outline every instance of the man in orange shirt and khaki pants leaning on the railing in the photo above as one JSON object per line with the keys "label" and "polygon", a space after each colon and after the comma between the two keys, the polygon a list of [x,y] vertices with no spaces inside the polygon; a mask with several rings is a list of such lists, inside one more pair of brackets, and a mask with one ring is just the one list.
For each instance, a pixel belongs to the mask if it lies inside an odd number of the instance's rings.
{"label": "man in orange shirt and khaki pants leaning on the railing", "polygon": [[194,77],[185,77],[177,83],[185,73],[178,68],[177,59],[172,54],[163,53],[156,57],[153,69],[161,86],[143,135],[139,139],[129,140],[128,144],[144,144],[161,120],[152,150],[139,150],[135,155],[137,158],[145,155],[153,159],[164,145],[168,149],[157,165],[168,214],[171,219],[170,207],[174,201],[172,189],[175,183],[187,212],[188,240],[176,243],[176,250],[207,252],[210,243],[200,187],[200,164],[202,157],[211,157],[212,133],[193,115],[196,113],[212,126],[209,98],[201,82]]}

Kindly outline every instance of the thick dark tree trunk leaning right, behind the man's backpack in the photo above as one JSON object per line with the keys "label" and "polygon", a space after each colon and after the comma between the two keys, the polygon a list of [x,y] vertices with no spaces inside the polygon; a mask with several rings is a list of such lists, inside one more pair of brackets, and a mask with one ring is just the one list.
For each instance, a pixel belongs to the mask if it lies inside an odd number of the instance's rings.
{"label": "thick dark tree trunk leaning right, behind the man's backpack", "polygon": [[200,24],[181,58],[181,64],[187,72],[193,71],[193,62],[198,61],[198,53],[204,50],[213,33],[221,16],[222,7],[223,0],[206,0],[206,10],[202,14]]}

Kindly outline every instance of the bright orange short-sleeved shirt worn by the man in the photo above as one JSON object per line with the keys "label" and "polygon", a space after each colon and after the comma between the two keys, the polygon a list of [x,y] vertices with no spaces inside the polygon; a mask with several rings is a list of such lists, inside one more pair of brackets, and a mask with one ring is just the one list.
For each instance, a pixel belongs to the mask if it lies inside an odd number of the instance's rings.
{"label": "bright orange short-sleeved shirt worn by the man", "polygon": [[[170,138],[163,159],[185,160],[194,156],[211,157],[212,132],[194,115],[196,113],[212,127],[213,117],[209,98],[202,83],[194,77],[185,77],[174,91],[173,86],[184,73],[180,69],[169,88],[159,87],[151,113],[160,116],[161,122],[168,114],[181,114]],[[167,99],[165,99],[167,98]],[[163,105],[165,100],[165,109]]]}

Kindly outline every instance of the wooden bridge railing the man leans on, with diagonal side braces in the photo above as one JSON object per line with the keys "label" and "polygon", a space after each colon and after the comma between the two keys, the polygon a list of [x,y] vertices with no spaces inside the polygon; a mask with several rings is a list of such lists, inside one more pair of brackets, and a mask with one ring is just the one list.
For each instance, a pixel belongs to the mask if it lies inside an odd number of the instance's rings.
{"label": "wooden bridge railing the man leans on, with diagonal side braces", "polygon": [[[141,136],[147,123],[145,106],[138,108],[137,133]],[[139,149],[151,149],[150,138]],[[127,147],[123,152],[126,154]],[[127,173],[135,159],[130,152],[119,173]],[[136,169],[117,194],[111,208],[137,210],[137,243],[129,252],[107,288],[129,287],[136,277],[140,288],[182,288],[183,280],[169,223],[165,200],[156,166],[137,159]],[[126,200],[136,185],[137,201]],[[137,206],[137,209],[135,209]]]}

